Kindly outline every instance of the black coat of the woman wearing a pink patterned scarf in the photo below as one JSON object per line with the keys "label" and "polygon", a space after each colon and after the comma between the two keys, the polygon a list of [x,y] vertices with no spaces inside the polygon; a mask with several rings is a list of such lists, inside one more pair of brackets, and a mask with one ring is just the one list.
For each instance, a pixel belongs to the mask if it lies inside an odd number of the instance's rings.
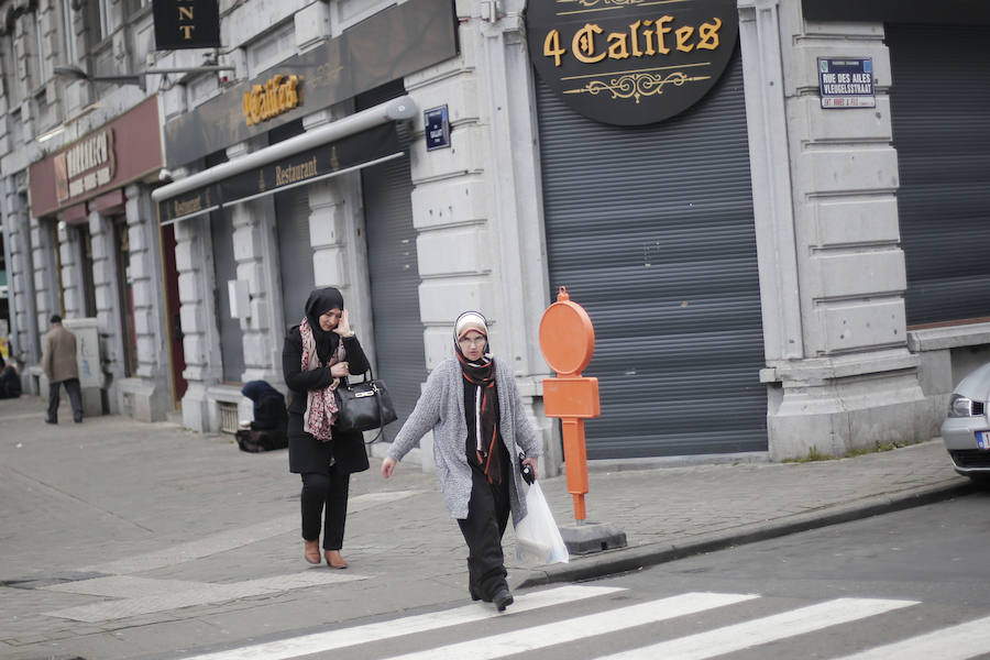
{"label": "black coat of the woman wearing a pink patterned scarf", "polygon": [[[343,341],[348,366],[352,374],[362,374],[370,367],[367,356],[356,337]],[[285,338],[282,349],[282,369],[285,372],[285,384],[289,388],[289,472],[329,473],[331,457],[338,470],[348,474],[367,470],[367,452],[364,449],[364,435],[360,431],[333,431],[329,442],[320,442],[302,430],[302,414],[306,411],[306,399],[310,389],[322,389],[333,382],[329,369],[302,371],[302,336],[295,326]]]}

